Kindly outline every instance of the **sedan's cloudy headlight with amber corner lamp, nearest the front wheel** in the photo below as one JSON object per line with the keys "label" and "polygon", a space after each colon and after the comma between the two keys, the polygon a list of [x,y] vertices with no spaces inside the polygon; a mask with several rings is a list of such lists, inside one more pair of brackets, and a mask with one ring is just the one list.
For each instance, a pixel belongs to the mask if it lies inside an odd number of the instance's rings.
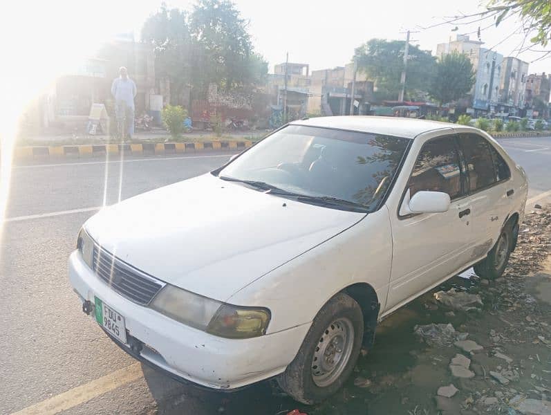
{"label": "sedan's cloudy headlight with amber corner lamp, nearest the front wheel", "polygon": [[270,311],[266,308],[232,306],[171,285],[162,288],[150,307],[187,326],[223,338],[258,337],[266,332],[270,322]]}

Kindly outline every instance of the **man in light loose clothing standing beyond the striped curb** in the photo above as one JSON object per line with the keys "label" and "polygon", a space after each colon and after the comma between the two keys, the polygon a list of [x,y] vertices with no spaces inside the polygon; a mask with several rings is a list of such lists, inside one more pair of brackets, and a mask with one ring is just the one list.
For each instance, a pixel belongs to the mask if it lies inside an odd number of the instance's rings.
{"label": "man in light loose clothing standing beyond the striped curb", "polygon": [[128,77],[127,68],[119,68],[120,76],[113,80],[111,94],[115,98],[115,116],[120,137],[132,138],[134,133],[134,98],[136,84]]}

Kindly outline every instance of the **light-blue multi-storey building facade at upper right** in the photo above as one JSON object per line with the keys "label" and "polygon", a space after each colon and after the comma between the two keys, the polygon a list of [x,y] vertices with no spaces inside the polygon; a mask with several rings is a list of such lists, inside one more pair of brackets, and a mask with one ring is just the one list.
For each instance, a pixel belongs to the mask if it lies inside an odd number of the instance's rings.
{"label": "light-blue multi-storey building facade at upper right", "polygon": [[496,113],[500,98],[500,82],[503,65],[503,55],[486,48],[478,49],[478,57],[474,59],[476,81],[471,91],[472,107],[475,114]]}

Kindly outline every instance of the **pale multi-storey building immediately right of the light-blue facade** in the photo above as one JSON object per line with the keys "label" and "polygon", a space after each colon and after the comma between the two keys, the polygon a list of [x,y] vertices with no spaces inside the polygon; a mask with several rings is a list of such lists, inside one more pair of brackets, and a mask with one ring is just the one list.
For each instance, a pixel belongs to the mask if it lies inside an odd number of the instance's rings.
{"label": "pale multi-storey building immediately right of the light-blue facade", "polygon": [[503,59],[501,73],[501,107],[512,116],[523,116],[525,112],[525,91],[528,77],[528,63],[516,57]]}

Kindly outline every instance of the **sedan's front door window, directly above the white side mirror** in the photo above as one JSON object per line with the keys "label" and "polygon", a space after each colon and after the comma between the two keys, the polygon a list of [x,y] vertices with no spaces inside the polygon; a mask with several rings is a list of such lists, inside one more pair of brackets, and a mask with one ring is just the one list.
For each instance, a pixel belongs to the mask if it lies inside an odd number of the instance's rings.
{"label": "sedan's front door window, directly above the white side mirror", "polygon": [[409,195],[420,190],[445,192],[450,199],[462,194],[459,155],[454,136],[426,142],[415,162],[408,183]]}

